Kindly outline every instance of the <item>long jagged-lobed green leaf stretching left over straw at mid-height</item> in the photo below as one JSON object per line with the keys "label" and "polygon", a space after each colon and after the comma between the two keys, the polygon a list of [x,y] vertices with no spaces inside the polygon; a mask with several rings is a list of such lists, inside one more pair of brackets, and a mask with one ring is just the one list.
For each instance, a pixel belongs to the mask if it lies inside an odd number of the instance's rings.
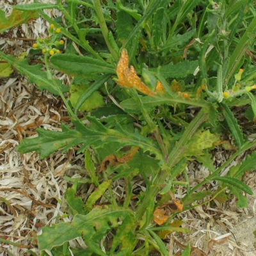
{"label": "long jagged-lobed green leaf stretching left over straw at mid-height", "polygon": [[67,152],[70,147],[83,143],[83,147],[77,152],[80,153],[88,147],[100,148],[117,141],[120,143],[120,148],[125,145],[140,147],[144,151],[156,154],[157,159],[162,159],[157,145],[152,140],[141,136],[139,132],[124,131],[118,124],[116,124],[115,130],[108,129],[91,116],[88,116],[88,120],[90,121],[90,128],[87,128],[79,120],[72,120],[76,129],[70,129],[65,124],[61,124],[61,132],[37,129],[38,137],[22,140],[17,149],[22,153],[36,151],[40,154],[40,159],[44,159],[44,157],[63,147],[65,147],[63,152]]}

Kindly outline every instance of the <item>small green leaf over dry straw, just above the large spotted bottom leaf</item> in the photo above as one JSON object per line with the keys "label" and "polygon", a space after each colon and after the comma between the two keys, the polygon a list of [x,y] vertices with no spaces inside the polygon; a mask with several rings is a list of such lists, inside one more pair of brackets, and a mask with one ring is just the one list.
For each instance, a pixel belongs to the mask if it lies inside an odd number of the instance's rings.
{"label": "small green leaf over dry straw, just above the large spotted bottom leaf", "polygon": [[72,188],[68,188],[65,191],[65,199],[67,201],[68,206],[70,207],[70,212],[73,215],[84,214],[84,203],[81,197],[76,196],[76,192]]}

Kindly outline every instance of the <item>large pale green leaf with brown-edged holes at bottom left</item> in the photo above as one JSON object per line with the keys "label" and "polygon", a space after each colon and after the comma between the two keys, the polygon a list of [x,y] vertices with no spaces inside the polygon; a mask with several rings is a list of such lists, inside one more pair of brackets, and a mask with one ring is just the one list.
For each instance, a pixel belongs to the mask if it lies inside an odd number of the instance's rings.
{"label": "large pale green leaf with brown-edged holes at bottom left", "polygon": [[[38,236],[40,250],[51,250],[76,237],[84,237],[88,247],[97,255],[106,255],[97,243],[111,228],[118,227],[118,220],[130,216],[134,220],[133,213],[129,209],[100,209],[95,208],[87,215],[76,214],[72,222],[61,222],[52,227],[43,227],[42,235]],[[134,223],[134,221],[132,222]],[[122,241],[120,241],[122,243]]]}

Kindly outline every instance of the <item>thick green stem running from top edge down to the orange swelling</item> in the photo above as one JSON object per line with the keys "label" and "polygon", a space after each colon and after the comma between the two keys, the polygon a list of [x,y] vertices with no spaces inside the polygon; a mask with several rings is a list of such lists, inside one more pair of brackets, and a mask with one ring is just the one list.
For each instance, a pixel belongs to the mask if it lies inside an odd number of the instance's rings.
{"label": "thick green stem running from top edge down to the orange swelling", "polygon": [[107,27],[107,24],[105,22],[105,19],[104,19],[103,13],[102,13],[100,1],[99,0],[93,0],[93,6],[95,8],[95,12],[97,13],[97,17],[99,19],[100,29],[102,31],[102,35],[104,37],[104,40],[105,40],[105,42],[108,46],[109,52],[111,53],[113,59],[117,63],[118,60],[119,60],[119,56],[118,56],[117,52],[115,52],[115,50],[111,47],[111,43],[109,42],[108,27]]}

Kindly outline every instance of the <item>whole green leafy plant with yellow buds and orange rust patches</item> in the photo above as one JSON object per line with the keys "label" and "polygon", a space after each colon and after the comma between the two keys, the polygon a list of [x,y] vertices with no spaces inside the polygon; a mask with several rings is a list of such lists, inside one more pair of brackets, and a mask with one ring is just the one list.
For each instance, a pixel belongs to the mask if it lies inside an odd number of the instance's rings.
{"label": "whole green leafy plant with yellow buds and orange rust patches", "polygon": [[[179,212],[214,198],[227,200],[227,189],[237,197],[239,207],[247,205],[242,192],[252,195],[252,189],[241,177],[255,169],[255,152],[232,166],[227,175],[220,173],[241,152],[256,145],[256,141],[244,138],[230,109],[250,104],[250,111],[256,116],[256,68],[252,57],[246,56],[248,51],[251,56],[254,53],[253,1],[113,2],[66,0],[61,4],[59,0],[56,5],[17,5],[16,10],[39,12],[52,24],[52,29],[58,29],[58,35],[66,36],[66,52],[43,51],[47,71],[1,52],[3,60],[39,88],[61,96],[75,127],[63,124],[61,132],[38,129],[38,138],[23,140],[19,151],[36,151],[43,159],[60,148],[67,152],[70,147],[82,144],[77,154],[84,153],[90,175],[87,182],[97,186],[84,205],[76,196],[81,183],[72,180],[73,186],[67,189],[65,199],[73,220],[44,227],[38,236],[40,250],[51,251],[53,255],[69,255],[68,241],[76,237],[84,239],[88,250],[73,250],[74,255],[148,255],[153,249],[167,255],[163,232],[189,232],[170,225]],[[45,8],[61,10],[67,25],[47,16],[42,12]],[[85,28],[84,22],[88,22]],[[47,40],[49,47],[56,42],[54,36]],[[94,49],[89,40],[95,41]],[[84,56],[76,54],[72,42],[79,45]],[[84,92],[71,91],[75,100],[68,101],[63,95],[68,88],[53,79],[51,68],[70,74],[76,85],[86,84]],[[97,96],[92,97],[93,93]],[[106,106],[102,106],[102,95],[111,99]],[[192,106],[195,116],[189,115]],[[77,118],[79,109],[93,109],[86,115],[86,125]],[[220,116],[224,121],[220,121]],[[237,151],[216,169],[209,150],[221,143],[220,133],[226,127]],[[128,150],[121,150],[127,147]],[[185,170],[190,159],[211,172],[193,188]],[[141,191],[136,209],[132,210],[131,182],[137,175],[143,178],[147,190]],[[111,188],[117,179],[124,180],[122,204],[116,202]],[[211,180],[218,180],[218,189],[204,190],[204,184]],[[182,202],[173,197],[178,186],[186,190]],[[155,203],[157,195],[161,195],[161,200]],[[108,201],[107,206],[97,205],[102,196]],[[170,202],[177,211],[165,216],[163,205]],[[110,246],[104,241],[106,236]],[[182,255],[189,252],[188,244]]]}

